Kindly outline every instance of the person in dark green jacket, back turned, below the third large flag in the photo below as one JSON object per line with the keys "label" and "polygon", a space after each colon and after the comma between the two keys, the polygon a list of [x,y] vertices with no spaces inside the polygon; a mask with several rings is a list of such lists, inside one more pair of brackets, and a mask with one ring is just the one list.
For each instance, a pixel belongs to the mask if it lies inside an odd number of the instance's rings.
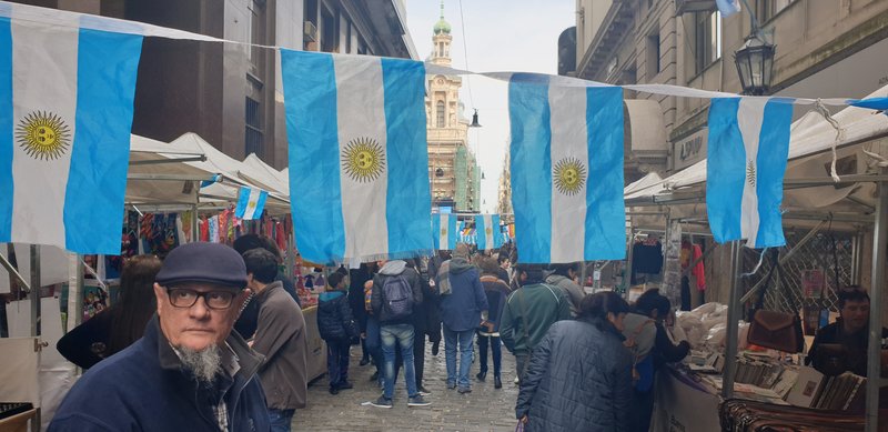
{"label": "person in dark green jacket, back turned, below the third large flag", "polygon": [[518,264],[518,283],[506,301],[500,323],[500,338],[515,355],[518,380],[524,375],[531,353],[555,321],[571,319],[571,301],[564,291],[544,283],[543,265]]}

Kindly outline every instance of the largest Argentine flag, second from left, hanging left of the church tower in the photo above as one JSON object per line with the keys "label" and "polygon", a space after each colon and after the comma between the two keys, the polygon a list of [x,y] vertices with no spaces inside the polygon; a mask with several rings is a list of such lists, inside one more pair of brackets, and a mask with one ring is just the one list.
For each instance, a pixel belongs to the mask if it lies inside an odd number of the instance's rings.
{"label": "largest Argentine flag, second from left, hanging left of the church tower", "polygon": [[281,68],[302,257],[431,253],[423,63],[281,49]]}

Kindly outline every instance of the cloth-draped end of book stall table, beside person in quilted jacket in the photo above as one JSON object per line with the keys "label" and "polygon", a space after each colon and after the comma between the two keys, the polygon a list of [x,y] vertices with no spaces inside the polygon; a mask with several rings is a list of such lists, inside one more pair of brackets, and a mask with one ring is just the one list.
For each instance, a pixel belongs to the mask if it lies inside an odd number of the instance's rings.
{"label": "cloth-draped end of book stall table, beside person in quilted jacket", "polygon": [[719,396],[712,394],[688,375],[672,368],[657,373],[656,405],[650,430],[656,432],[720,431]]}

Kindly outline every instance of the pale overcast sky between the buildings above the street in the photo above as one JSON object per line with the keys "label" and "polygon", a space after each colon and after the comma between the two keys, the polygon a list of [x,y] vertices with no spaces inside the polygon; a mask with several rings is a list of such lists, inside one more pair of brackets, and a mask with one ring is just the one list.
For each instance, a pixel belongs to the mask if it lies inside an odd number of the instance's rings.
{"label": "pale overcast sky between the buildings above the street", "polygon": [[[441,14],[441,0],[406,0],[406,7],[407,28],[420,60],[425,60],[432,52],[432,28]],[[444,0],[444,19],[453,29],[452,66],[476,72],[555,74],[558,36],[576,24],[575,8],[575,0]],[[468,130],[468,148],[478,155],[485,175],[481,181],[482,211],[494,213],[508,148],[507,86],[484,77],[464,77],[460,100],[470,119],[473,109],[478,110],[482,128]]]}

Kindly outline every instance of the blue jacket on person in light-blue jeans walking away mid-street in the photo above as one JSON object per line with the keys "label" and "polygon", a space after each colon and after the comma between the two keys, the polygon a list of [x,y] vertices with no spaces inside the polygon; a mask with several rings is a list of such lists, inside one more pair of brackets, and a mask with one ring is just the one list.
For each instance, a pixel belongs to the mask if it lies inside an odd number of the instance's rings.
{"label": "blue jacket on person in light-blue jeans walking away mid-street", "polygon": [[475,330],[481,312],[487,310],[487,295],[481,284],[478,270],[465,260],[451,260],[451,293],[441,297],[441,321],[451,331]]}

